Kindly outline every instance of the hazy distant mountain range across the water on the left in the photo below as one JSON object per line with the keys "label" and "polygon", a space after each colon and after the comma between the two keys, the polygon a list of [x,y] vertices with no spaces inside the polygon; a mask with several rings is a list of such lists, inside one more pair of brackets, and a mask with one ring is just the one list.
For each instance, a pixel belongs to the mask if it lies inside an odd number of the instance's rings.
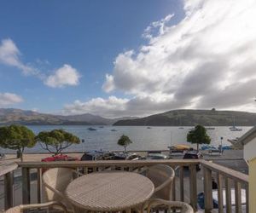
{"label": "hazy distant mountain range across the water on the left", "polygon": [[80,115],[61,116],[61,115],[46,114],[46,113],[14,109],[14,108],[0,108],[0,125],[1,124],[109,125],[119,121],[120,119],[129,119],[129,117],[110,119],[110,118],[103,118],[97,115],[92,115],[90,113],[85,113]]}

